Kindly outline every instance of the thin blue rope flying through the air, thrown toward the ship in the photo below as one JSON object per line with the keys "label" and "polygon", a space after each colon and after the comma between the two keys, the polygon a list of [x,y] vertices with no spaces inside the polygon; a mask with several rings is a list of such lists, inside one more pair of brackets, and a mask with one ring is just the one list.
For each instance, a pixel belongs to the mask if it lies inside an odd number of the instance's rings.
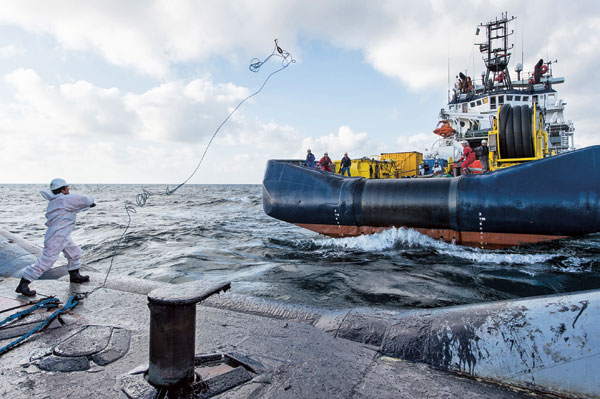
{"label": "thin blue rope flying through the air, thrown toward the ship", "polygon": [[187,179],[185,179],[182,183],[178,184],[177,186],[175,186],[175,188],[173,189],[169,189],[169,187],[167,186],[165,192],[163,193],[152,193],[146,189],[142,189],[142,192],[137,194],[135,197],[135,203],[131,202],[131,201],[125,201],[124,204],[124,208],[125,208],[125,212],[127,213],[127,226],[125,227],[125,230],[123,230],[123,233],[121,234],[121,237],[119,238],[119,240],[117,241],[117,244],[115,245],[113,252],[111,254],[111,258],[110,258],[110,266],[108,268],[108,271],[106,273],[106,277],[104,278],[104,282],[102,283],[101,286],[98,286],[94,289],[92,289],[91,291],[89,291],[87,294],[83,294],[86,297],[91,295],[94,291],[100,289],[100,288],[104,288],[104,286],[106,285],[106,281],[108,280],[108,276],[112,270],[112,266],[113,266],[113,261],[115,258],[115,255],[117,253],[117,250],[119,249],[120,245],[121,245],[121,241],[123,240],[123,238],[125,237],[125,234],[127,233],[127,231],[129,230],[129,227],[131,225],[131,215],[135,214],[136,208],[137,207],[143,207],[146,205],[148,199],[153,196],[153,195],[173,195],[175,194],[175,192],[177,190],[179,190],[182,186],[184,186],[198,171],[198,169],[200,168],[200,165],[202,165],[202,162],[204,161],[204,157],[206,156],[206,153],[208,152],[208,149],[210,148],[210,145],[212,144],[214,138],[217,136],[217,134],[219,133],[219,131],[221,130],[221,128],[227,123],[227,121],[229,121],[229,119],[231,118],[231,116],[238,110],[238,108],[244,104],[246,101],[248,101],[249,99],[251,99],[252,97],[258,95],[263,88],[267,85],[267,82],[269,81],[269,79],[271,79],[271,77],[281,71],[283,71],[284,69],[286,69],[288,66],[290,66],[290,64],[293,64],[296,62],[296,60],[292,57],[292,55],[282,49],[281,47],[279,47],[279,43],[278,40],[275,39],[275,47],[273,48],[273,52],[267,56],[264,60],[259,60],[258,58],[253,58],[250,61],[250,65],[248,66],[248,69],[250,69],[250,71],[252,72],[259,72],[260,68],[266,63],[268,62],[272,57],[276,57],[276,58],[281,58],[281,68],[276,69],[275,71],[271,72],[264,80],[263,84],[260,86],[260,88],[258,90],[256,90],[254,93],[250,94],[248,97],[244,98],[242,101],[240,101],[238,103],[238,105],[236,105],[236,107],[229,113],[229,115],[227,115],[227,117],[223,120],[223,122],[221,122],[221,124],[217,127],[217,129],[215,130],[215,132],[213,133],[213,135],[211,136],[210,140],[208,141],[208,143],[206,144],[206,147],[204,148],[204,152],[202,153],[202,157],[200,158],[200,161],[198,162],[198,164],[196,165],[196,168],[194,169],[194,171],[189,175],[189,177]]}

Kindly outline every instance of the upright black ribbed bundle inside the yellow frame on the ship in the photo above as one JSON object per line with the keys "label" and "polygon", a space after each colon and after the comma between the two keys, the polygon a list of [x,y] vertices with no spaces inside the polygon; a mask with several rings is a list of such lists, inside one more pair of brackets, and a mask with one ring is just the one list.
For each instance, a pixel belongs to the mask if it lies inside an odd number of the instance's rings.
{"label": "upright black ribbed bundle inside the yellow frame on the ship", "polygon": [[531,109],[527,105],[510,104],[500,108],[500,157],[532,158],[535,156]]}

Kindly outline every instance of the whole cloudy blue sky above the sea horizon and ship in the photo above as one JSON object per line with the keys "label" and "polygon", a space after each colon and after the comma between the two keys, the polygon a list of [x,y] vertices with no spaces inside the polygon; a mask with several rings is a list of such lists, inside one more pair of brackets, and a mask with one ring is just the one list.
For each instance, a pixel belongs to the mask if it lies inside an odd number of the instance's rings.
{"label": "whole cloudy blue sky above the sea horizon and ship", "polygon": [[259,184],[268,159],[427,152],[449,85],[484,70],[508,12],[511,71],[557,60],[578,148],[600,144],[596,1],[2,1],[0,182]]}

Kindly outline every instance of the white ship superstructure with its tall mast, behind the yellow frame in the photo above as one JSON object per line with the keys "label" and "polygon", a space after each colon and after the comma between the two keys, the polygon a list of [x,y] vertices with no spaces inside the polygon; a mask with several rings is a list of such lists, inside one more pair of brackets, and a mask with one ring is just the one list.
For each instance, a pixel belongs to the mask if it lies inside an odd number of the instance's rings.
{"label": "white ship superstructure with its tall mast, behind the yellow frame", "polygon": [[[486,30],[486,41],[477,44],[486,70],[477,78],[462,72],[457,76],[458,81],[449,93],[447,109],[442,109],[439,115],[440,120],[447,121],[454,132],[434,145],[438,147],[438,153],[447,153],[442,147],[453,146],[453,141],[467,140],[472,146],[478,146],[481,140],[487,139],[493,118],[504,104],[513,107],[536,105],[544,116],[544,130],[548,132],[551,153],[575,148],[575,128],[564,116],[567,103],[554,89],[555,85],[565,81],[563,77],[552,74],[552,64],[556,61],[544,63],[539,60],[529,73],[524,73],[523,66],[517,64],[514,69],[517,79],[511,79],[508,64],[513,46],[508,46],[508,37],[513,31],[508,31],[508,23],[514,19],[503,14],[502,18],[477,28],[478,33],[480,28]],[[432,152],[436,151],[432,149]]]}

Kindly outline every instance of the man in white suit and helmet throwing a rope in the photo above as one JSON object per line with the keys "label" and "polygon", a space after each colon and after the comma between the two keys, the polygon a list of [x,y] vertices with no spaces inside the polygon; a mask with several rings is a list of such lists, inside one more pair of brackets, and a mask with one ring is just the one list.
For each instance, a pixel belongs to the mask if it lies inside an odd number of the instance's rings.
{"label": "man in white suit and helmet throwing a rope", "polygon": [[64,179],[54,179],[50,182],[50,191],[40,191],[42,197],[48,200],[46,209],[46,236],[44,250],[33,265],[27,267],[15,292],[25,296],[34,296],[35,291],[29,288],[33,280],[37,280],[46,270],[49,270],[62,252],[67,258],[67,270],[72,283],[85,283],[89,276],[79,274],[81,263],[81,248],[71,240],[71,232],[75,228],[75,218],[78,212],[96,206],[94,198],[88,195],[69,193],[69,185]]}

